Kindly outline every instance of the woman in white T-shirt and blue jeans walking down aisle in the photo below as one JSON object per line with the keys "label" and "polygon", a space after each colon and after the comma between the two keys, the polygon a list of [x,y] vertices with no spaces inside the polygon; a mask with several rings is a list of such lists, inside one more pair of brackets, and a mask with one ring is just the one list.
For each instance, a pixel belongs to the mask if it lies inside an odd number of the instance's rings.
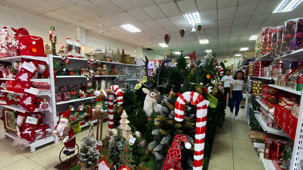
{"label": "woman in white T-shirt and blue jeans walking down aisle", "polygon": [[232,117],[234,115],[234,106],[236,106],[235,110],[235,120],[238,120],[238,113],[240,109],[240,103],[243,98],[242,89],[244,85],[244,72],[242,70],[238,70],[236,75],[230,81],[230,115]]}

